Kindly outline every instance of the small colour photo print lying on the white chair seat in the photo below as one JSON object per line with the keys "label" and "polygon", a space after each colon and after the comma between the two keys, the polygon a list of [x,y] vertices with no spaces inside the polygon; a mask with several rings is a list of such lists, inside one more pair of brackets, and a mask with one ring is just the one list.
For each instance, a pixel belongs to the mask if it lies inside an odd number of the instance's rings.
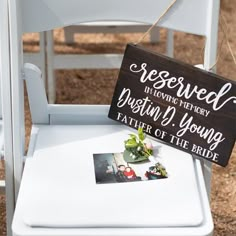
{"label": "small colour photo print lying on the white chair seat", "polygon": [[157,161],[127,163],[123,153],[93,154],[97,184],[125,183],[167,178],[165,167]]}

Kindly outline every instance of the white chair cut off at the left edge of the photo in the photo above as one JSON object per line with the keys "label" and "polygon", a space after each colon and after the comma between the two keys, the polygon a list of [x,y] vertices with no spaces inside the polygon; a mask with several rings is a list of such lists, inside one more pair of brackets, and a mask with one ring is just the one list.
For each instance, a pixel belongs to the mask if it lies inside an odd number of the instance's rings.
{"label": "white chair cut off at the left edge of the photo", "polygon": [[12,113],[10,87],[10,51],[7,0],[0,1],[0,147],[5,164],[5,181],[0,181],[0,192],[6,197],[7,235],[12,235],[11,224],[15,208],[14,162],[12,153]]}

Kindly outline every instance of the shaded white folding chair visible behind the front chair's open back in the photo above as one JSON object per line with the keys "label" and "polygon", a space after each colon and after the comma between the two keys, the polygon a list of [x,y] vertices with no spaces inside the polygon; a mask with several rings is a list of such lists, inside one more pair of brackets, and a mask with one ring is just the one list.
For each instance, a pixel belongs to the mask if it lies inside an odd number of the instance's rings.
{"label": "shaded white folding chair visible behind the front chair's open back", "polygon": [[[94,4],[100,4],[99,2]],[[156,3],[158,4],[158,3]],[[74,42],[74,34],[79,33],[137,33],[146,32],[150,25],[137,22],[87,22],[72,25],[64,28],[66,43]],[[119,68],[123,56],[121,54],[91,54],[91,55],[71,55],[55,54],[53,30],[47,31],[47,75],[48,75],[48,100],[55,103],[56,100],[56,79],[54,69],[110,69]],[[155,27],[150,33],[150,41],[158,42],[159,28]],[[166,54],[173,57],[173,31],[167,30]]]}

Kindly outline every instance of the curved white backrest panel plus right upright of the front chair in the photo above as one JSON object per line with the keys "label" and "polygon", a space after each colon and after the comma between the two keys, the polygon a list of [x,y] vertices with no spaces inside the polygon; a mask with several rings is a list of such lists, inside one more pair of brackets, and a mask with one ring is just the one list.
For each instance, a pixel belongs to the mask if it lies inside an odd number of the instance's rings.
{"label": "curved white backrest panel plus right upright of the front chair", "polygon": [[[21,0],[22,31],[40,32],[94,21],[130,21],[153,24],[173,0]],[[19,3],[18,3],[19,4]],[[219,0],[177,0],[160,22],[176,31],[206,36],[204,67],[215,62]]]}

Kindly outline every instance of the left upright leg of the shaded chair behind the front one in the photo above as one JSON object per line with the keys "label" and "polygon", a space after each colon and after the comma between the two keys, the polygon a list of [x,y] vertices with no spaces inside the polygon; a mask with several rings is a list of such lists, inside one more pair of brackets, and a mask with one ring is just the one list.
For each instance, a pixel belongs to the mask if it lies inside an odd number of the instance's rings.
{"label": "left upright leg of the shaded chair behind the front one", "polygon": [[54,40],[53,31],[46,32],[47,38],[47,80],[48,80],[48,102],[55,103],[56,100],[56,81],[54,76]]}

